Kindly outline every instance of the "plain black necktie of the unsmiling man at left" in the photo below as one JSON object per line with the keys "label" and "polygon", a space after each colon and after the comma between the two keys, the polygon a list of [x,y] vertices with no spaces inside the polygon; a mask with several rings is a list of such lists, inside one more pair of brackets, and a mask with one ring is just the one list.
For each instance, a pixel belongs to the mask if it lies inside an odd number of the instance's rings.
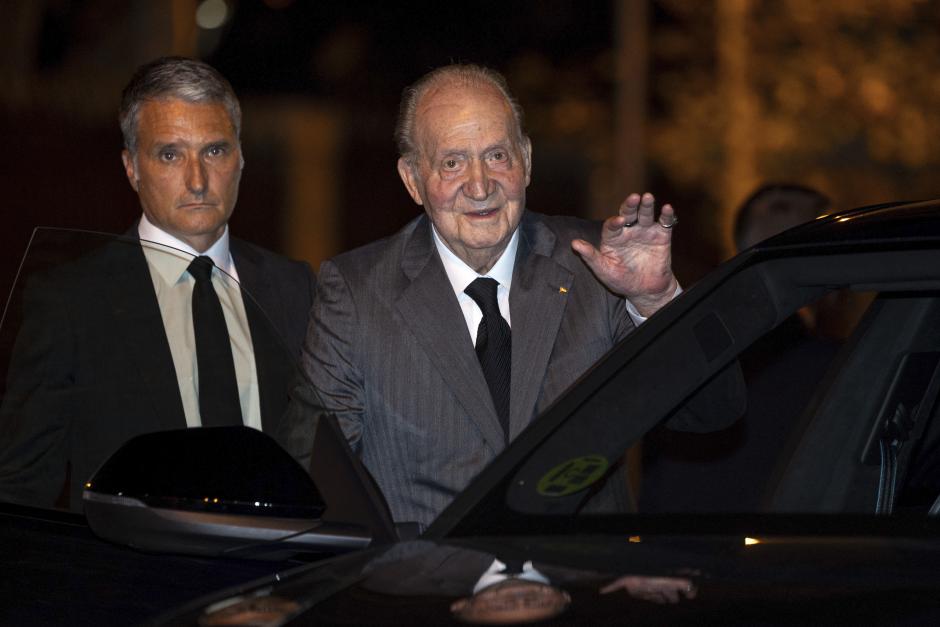
{"label": "plain black necktie of the unsmiling man at left", "polygon": [[199,369],[199,416],[204,427],[242,424],[241,401],[235,380],[235,360],[219,296],[212,287],[209,257],[196,257],[189,273],[193,287],[193,333]]}

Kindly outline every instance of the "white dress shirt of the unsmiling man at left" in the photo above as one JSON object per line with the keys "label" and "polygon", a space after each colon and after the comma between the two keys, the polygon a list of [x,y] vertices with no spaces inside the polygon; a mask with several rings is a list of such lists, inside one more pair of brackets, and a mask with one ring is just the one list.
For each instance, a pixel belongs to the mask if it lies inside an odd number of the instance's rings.
{"label": "white dress shirt of the unsmiling man at left", "polygon": [[238,285],[238,272],[229,251],[228,226],[225,227],[222,237],[204,253],[157,228],[146,216],[141,216],[137,232],[147,265],[150,267],[157,304],[170,344],[173,368],[176,370],[183,411],[186,414],[186,426],[202,426],[199,415],[199,368],[196,363],[192,316],[193,286],[196,281],[187,272],[187,268],[193,256],[205,255],[210,257],[216,266],[212,270],[212,285],[219,296],[232,342],[242,420],[246,426],[260,430],[258,372],[245,303]]}

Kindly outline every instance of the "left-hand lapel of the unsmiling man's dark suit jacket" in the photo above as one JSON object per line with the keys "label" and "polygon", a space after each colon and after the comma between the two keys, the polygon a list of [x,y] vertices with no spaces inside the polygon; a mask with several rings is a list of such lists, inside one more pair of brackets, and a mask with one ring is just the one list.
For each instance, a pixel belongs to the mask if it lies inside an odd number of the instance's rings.
{"label": "left-hand lapel of the unsmiling man's dark suit jacket", "polygon": [[136,240],[116,239],[110,246],[114,254],[109,255],[109,285],[105,292],[111,304],[115,337],[121,338],[138,364],[157,424],[164,429],[182,429],[186,426],[183,401],[143,249]]}

